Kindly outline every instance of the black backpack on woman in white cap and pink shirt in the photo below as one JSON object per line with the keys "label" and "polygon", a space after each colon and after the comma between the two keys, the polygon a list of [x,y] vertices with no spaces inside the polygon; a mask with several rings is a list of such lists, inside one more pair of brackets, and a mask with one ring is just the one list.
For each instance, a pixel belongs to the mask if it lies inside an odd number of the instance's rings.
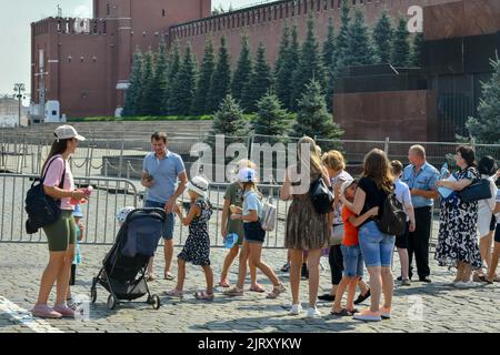
{"label": "black backpack on woman in white cap and pink shirt", "polygon": [[[37,233],[40,227],[56,222],[61,215],[61,201],[48,196],[43,191],[43,180],[46,179],[50,164],[52,164],[56,159],[57,156],[50,161],[43,176],[41,179],[36,179],[26,194],[24,210],[28,214],[26,232],[28,234]],[[59,189],[63,187],[64,174],[66,164]]]}

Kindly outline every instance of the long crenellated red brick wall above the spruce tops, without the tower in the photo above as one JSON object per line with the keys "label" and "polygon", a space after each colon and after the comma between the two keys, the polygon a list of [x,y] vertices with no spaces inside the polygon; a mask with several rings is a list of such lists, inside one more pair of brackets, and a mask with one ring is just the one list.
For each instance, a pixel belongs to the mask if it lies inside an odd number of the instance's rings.
{"label": "long crenellated red brick wall above the spruce tops, without the tower", "polygon": [[[399,13],[410,19],[411,16],[408,14],[408,9],[411,6],[424,7],[457,0],[350,1],[352,1],[353,7],[362,9],[367,22],[371,26],[377,21],[383,9],[389,10],[394,20]],[[171,41],[179,40],[182,47],[191,43],[197,59],[201,61],[207,39],[213,39],[217,50],[220,38],[224,36],[234,65],[241,48],[241,36],[247,33],[252,52],[257,51],[259,42],[263,42],[268,60],[273,63],[278,55],[279,41],[286,23],[289,26],[297,23],[299,40],[302,41],[307,34],[307,19],[309,14],[313,14],[316,34],[319,41],[322,42],[327,38],[330,18],[333,19],[337,29],[340,27],[340,4],[341,0],[277,1],[173,27],[170,29],[170,39]]]}

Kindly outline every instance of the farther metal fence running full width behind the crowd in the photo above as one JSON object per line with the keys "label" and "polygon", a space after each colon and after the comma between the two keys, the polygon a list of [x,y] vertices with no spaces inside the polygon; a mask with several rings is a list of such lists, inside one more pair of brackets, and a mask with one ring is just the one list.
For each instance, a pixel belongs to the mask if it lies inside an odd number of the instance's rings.
{"label": "farther metal fence running full width behind the crowd", "polygon": [[[116,132],[116,135],[102,138],[98,133],[88,136],[81,142],[76,154],[71,156],[71,169],[76,175],[82,176],[118,176],[127,179],[139,179],[141,174],[141,162],[146,153],[151,151],[149,134],[143,138],[130,138],[130,133]],[[213,136],[208,134],[176,134],[169,138],[169,149],[173,152],[189,158],[190,150],[196,143],[212,141]],[[249,153],[252,154],[257,144],[270,143],[277,140],[284,143],[297,143],[298,138],[269,136],[249,134],[247,136],[228,138],[231,142],[243,143]],[[383,141],[356,141],[356,140],[317,140],[323,151],[329,148],[340,148],[346,155],[348,165],[359,170],[363,156],[373,148],[384,150],[390,159],[408,161],[408,149],[412,144],[421,144],[426,148],[428,161],[439,168],[444,161],[453,166],[451,155],[459,142],[401,142],[386,139]],[[52,138],[40,138],[28,133],[9,134],[7,130],[0,130],[0,172],[37,174],[46,156],[49,153]],[[500,144],[476,144],[471,143],[477,152],[478,159],[483,155],[492,155],[500,161]],[[259,156],[252,156],[256,160]],[[193,159],[192,159],[193,160]],[[187,159],[187,165],[190,165]],[[189,171],[189,166],[188,171]],[[282,176],[276,175],[279,180]]]}

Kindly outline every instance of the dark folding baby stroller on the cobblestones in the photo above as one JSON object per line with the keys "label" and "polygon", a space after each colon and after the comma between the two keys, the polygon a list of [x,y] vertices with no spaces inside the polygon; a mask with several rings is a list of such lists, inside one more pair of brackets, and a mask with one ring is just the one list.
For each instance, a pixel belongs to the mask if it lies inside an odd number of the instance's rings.
{"label": "dark folding baby stroller on the cobblestones", "polygon": [[161,237],[164,220],[166,212],[161,209],[138,209],[127,215],[114,245],[102,261],[103,266],[92,280],[92,303],[97,300],[96,286],[100,284],[110,293],[109,310],[113,310],[121,300],[132,301],[146,294],[146,302],[154,310],[160,308],[160,297],[151,295],[144,275]]}

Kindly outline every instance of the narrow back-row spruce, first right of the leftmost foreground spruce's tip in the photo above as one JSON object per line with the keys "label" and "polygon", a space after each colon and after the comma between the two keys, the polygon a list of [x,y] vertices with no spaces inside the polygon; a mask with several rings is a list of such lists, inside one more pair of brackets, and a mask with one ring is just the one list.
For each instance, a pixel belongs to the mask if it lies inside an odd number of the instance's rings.
{"label": "narrow back-row spruce, first right of the leftmost foreground spruce's tip", "polygon": [[243,102],[243,93],[250,84],[250,78],[252,74],[252,58],[250,53],[250,43],[248,36],[244,34],[241,39],[241,51],[238,58],[237,69],[232,77],[231,92],[232,98],[239,102],[243,108],[249,103]]}

